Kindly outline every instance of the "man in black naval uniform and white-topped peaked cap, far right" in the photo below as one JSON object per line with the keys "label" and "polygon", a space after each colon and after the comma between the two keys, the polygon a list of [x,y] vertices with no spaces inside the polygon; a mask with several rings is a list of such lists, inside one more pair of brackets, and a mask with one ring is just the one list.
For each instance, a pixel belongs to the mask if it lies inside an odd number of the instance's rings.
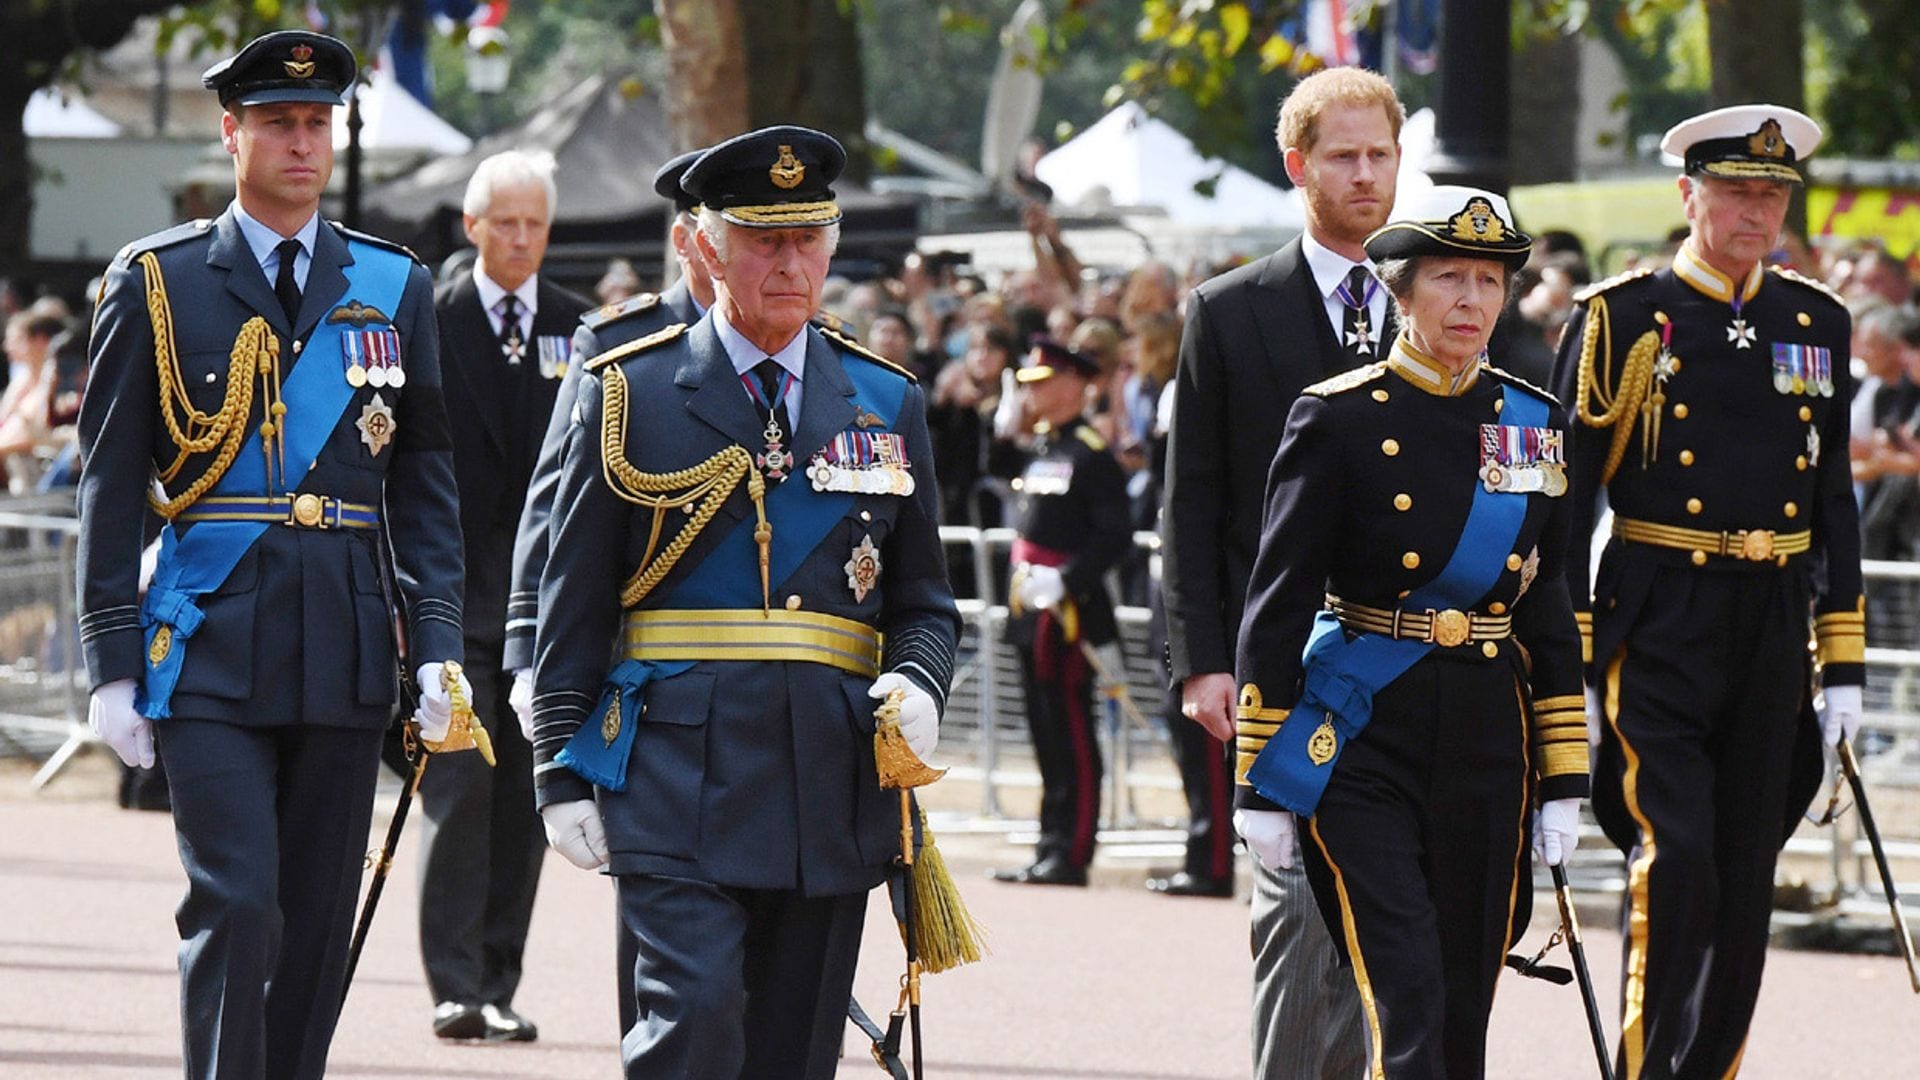
{"label": "man in black naval uniform and white-topped peaked cap, far right", "polygon": [[[1628,855],[1628,1080],[1738,1068],[1774,861],[1818,786],[1820,726],[1837,742],[1860,723],[1851,325],[1820,284],[1761,265],[1818,142],[1780,106],[1668,131],[1661,148],[1686,169],[1680,254],[1586,290],[1561,338],[1594,811]],[[1601,492],[1613,538],[1588,588]]]}

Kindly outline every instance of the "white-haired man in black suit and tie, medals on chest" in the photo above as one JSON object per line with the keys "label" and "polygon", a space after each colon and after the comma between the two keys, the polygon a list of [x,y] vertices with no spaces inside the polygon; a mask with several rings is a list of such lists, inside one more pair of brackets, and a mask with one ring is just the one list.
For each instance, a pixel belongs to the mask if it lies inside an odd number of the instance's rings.
{"label": "white-haired man in black suit and tie, medals on chest", "polygon": [[463,217],[480,256],[440,288],[447,407],[467,544],[467,661],[474,713],[493,732],[497,769],[478,755],[436,761],[420,782],[420,959],[434,1034],[532,1042],[513,1011],[545,836],[534,811],[534,757],[511,721],[507,586],[515,527],[555,392],[576,357],[588,302],[540,275],[553,223],[553,158],[507,150],[474,169]]}

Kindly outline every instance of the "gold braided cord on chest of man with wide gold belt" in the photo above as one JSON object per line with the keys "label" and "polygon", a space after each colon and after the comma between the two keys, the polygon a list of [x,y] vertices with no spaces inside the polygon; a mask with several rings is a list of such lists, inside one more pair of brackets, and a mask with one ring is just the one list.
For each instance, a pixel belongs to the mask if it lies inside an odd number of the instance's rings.
{"label": "gold braided cord on chest of man with wide gold belt", "polygon": [[[747,496],[758,515],[753,538],[760,546],[760,605],[768,603],[768,565],[772,525],[766,523],[766,477],[753,467],[753,454],[745,446],[728,446],[707,461],[676,473],[641,473],[626,459],[626,375],[618,363],[601,369],[601,475],[607,486],[622,500],[653,511],[653,528],[647,532],[647,553],[639,559],[639,569],[620,588],[620,605],[634,607],[653,586],[674,569],[674,563],[687,553],[701,530],[720,513],[741,479],[747,480]],[[699,502],[699,507],[693,503]],[[691,509],[693,517],[680,527],[680,532],[660,550],[660,528],[666,511]],[[659,552],[659,557],[655,557]]]}

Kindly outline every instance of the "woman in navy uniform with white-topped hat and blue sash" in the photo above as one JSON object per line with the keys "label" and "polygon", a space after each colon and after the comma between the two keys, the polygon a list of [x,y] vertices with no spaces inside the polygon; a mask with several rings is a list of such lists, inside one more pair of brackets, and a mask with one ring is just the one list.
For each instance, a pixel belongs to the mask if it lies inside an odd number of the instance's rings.
{"label": "woman in navy uniform with white-topped hat and blue sash", "polygon": [[[1526,826],[1559,863],[1586,794],[1557,404],[1486,340],[1530,240],[1440,186],[1367,238],[1388,359],[1294,404],[1238,642],[1240,832],[1292,865],[1352,965],[1373,1078],[1475,1078],[1524,926]],[[1296,826],[1296,821],[1302,822]]]}

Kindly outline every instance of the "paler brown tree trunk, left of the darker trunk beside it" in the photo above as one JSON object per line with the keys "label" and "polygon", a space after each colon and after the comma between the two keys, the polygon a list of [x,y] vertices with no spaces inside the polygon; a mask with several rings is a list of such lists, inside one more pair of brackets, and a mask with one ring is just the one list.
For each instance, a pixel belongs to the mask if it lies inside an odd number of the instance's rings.
{"label": "paler brown tree trunk, left of the darker trunk beside it", "polygon": [[737,0],[659,0],[666,117],[674,146],[712,146],[747,131],[747,65]]}

